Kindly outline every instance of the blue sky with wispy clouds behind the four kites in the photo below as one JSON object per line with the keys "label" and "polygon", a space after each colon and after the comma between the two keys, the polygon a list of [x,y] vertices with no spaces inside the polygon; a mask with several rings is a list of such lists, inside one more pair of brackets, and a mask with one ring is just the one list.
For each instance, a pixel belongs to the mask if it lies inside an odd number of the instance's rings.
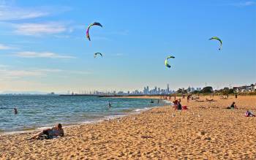
{"label": "blue sky with wispy clouds behind the four kites", "polygon": [[222,88],[255,64],[256,1],[0,1],[0,91]]}

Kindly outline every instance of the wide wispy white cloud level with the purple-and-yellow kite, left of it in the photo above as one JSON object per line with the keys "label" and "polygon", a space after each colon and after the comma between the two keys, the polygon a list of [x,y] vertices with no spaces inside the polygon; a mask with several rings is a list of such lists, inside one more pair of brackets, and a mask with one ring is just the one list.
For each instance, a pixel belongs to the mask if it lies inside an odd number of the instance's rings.
{"label": "wide wispy white cloud level with the purple-and-yellow kite, left of it", "polygon": [[15,33],[27,36],[39,36],[42,34],[59,34],[68,28],[60,23],[23,23],[15,25]]}

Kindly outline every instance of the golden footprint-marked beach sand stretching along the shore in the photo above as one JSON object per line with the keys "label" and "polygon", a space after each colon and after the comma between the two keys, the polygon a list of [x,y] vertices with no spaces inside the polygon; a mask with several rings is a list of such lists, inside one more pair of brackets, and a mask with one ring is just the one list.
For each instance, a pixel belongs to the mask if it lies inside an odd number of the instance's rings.
{"label": "golden footprint-marked beach sand stretching along the shore", "polygon": [[[256,96],[214,99],[187,104],[181,98],[189,110],[159,107],[72,126],[54,140],[1,135],[0,159],[256,159],[256,117],[244,117],[246,109],[256,113]],[[224,109],[233,101],[238,110]]]}

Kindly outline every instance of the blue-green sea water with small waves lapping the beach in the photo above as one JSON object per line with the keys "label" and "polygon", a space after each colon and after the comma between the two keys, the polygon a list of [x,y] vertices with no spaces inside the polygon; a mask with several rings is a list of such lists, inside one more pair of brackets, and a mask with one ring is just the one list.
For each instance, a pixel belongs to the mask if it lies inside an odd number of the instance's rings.
{"label": "blue-green sea water with small waves lapping the beach", "polygon": [[[157,101],[97,96],[0,96],[0,134],[42,129],[56,123],[92,123],[167,104]],[[108,102],[112,107],[108,107]],[[17,115],[14,107],[18,108]]]}

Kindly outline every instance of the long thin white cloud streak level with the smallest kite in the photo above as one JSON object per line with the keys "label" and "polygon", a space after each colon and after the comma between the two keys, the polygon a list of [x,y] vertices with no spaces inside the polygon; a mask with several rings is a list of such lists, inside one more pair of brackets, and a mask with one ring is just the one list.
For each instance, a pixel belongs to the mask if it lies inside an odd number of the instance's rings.
{"label": "long thin white cloud streak level with the smallest kite", "polygon": [[62,56],[57,53],[50,52],[19,52],[15,53],[14,56],[22,58],[75,58],[74,56]]}

